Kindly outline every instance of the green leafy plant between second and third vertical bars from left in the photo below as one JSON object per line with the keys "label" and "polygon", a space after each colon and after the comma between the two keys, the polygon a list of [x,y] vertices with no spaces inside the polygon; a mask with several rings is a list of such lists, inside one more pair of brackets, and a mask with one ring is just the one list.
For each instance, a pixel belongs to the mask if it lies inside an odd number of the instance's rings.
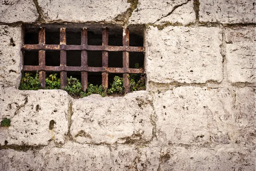
{"label": "green leafy plant between second and third vertical bars from left", "polygon": [[63,87],[63,90],[67,91],[70,96],[80,96],[82,85],[78,79],[70,76],[67,78],[67,86]]}

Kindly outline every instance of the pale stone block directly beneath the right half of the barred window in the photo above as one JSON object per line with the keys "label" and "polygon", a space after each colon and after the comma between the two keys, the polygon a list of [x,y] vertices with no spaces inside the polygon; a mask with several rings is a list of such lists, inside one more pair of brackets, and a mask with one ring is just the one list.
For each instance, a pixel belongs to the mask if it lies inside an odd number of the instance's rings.
{"label": "pale stone block directly beneath the right half of the barred window", "polygon": [[91,95],[74,100],[70,132],[80,143],[131,143],[152,137],[151,96],[146,91],[124,97]]}

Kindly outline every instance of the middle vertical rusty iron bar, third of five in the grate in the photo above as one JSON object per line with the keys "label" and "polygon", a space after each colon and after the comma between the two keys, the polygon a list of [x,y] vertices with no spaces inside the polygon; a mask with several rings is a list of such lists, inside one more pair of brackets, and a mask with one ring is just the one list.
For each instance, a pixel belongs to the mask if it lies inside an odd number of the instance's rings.
{"label": "middle vertical rusty iron bar, third of five in the grate", "polygon": [[[83,28],[81,30],[81,45],[87,45],[87,29],[86,28]],[[86,50],[81,51],[81,66],[85,66],[85,67],[88,66]],[[88,81],[87,71],[82,71],[81,72],[81,83],[82,83],[82,89],[84,92],[87,89],[87,81]]]}

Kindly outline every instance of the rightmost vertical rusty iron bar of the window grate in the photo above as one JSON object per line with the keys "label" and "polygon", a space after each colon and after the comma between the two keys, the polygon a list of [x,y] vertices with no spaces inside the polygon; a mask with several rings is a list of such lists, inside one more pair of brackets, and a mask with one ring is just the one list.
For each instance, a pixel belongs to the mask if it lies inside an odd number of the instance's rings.
{"label": "rightmost vertical rusty iron bar of the window grate", "polygon": [[[123,46],[129,46],[129,29],[123,29]],[[129,86],[129,74],[127,73],[129,68],[129,52],[123,51],[123,68],[125,69],[125,73],[123,73],[123,86],[125,88],[125,94],[128,93]]]}

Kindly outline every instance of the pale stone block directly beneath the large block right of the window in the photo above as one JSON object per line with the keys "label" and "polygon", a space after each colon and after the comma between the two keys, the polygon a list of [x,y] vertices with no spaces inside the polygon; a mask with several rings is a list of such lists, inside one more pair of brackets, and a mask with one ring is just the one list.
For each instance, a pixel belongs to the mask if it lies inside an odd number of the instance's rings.
{"label": "pale stone block directly beneath the large block right of the window", "polygon": [[226,88],[177,87],[157,95],[157,136],[169,144],[235,142],[233,97]]}

